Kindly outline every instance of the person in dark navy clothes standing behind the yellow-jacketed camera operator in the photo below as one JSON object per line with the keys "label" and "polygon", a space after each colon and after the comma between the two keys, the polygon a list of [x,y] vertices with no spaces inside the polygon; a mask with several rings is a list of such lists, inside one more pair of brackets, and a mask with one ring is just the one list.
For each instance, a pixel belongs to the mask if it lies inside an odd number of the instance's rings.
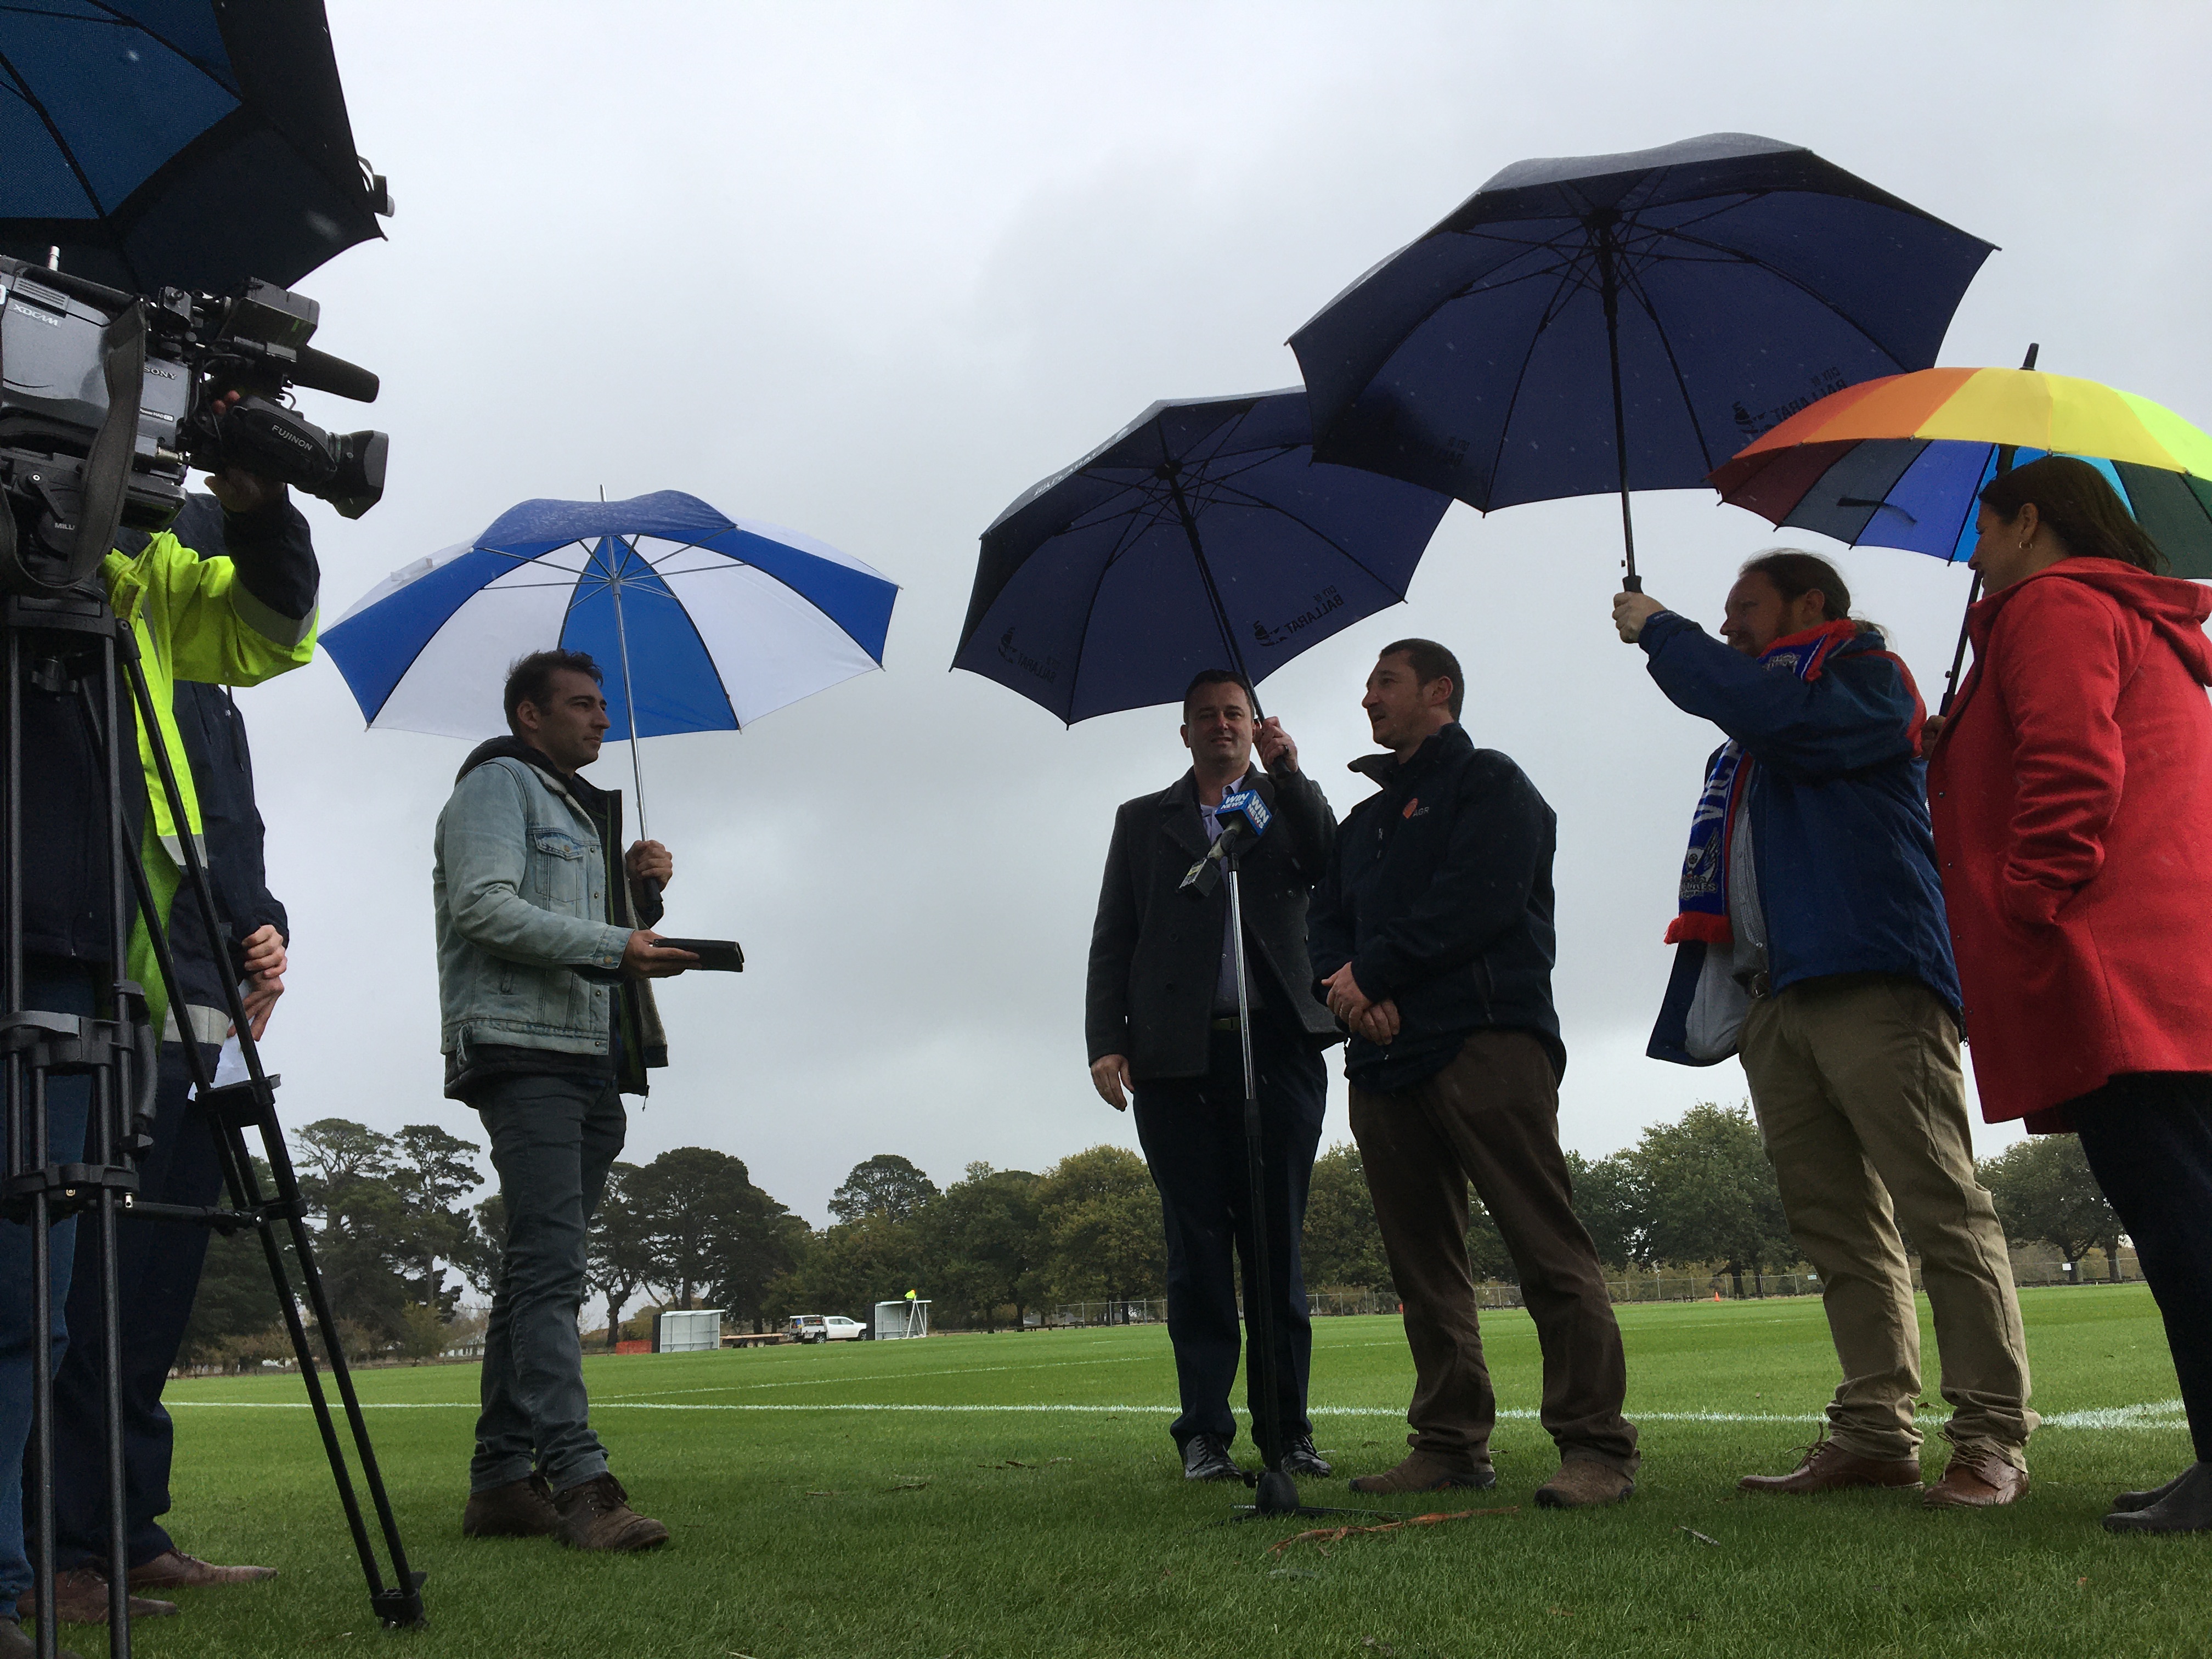
{"label": "person in dark navy clothes standing behind the yellow-jacketed camera operator", "polygon": [[[217,551],[232,538],[248,542],[265,538],[283,544],[294,568],[312,573],[314,546],[307,520],[281,489],[265,495],[250,480],[215,478],[212,484],[217,498],[186,498],[184,511],[170,526],[181,542]],[[217,507],[217,500],[228,509]],[[212,1075],[230,1029],[221,982],[239,980],[252,1035],[261,1040],[274,1002],[283,995],[290,922],[283,905],[268,891],[263,874],[263,825],[254,807],[243,714],[228,690],[195,681],[177,681],[173,712],[190,757],[208,880],[226,936],[208,940],[197,900],[190,891],[177,891],[170,900],[168,947],[186,1006],[168,1011],[168,1026],[161,1033],[153,1150],[139,1161],[139,1199],[210,1206],[221,1199],[223,1168],[215,1126],[190,1097],[184,1033],[199,1044],[204,1068]],[[192,1318],[208,1256],[208,1230],[139,1217],[117,1230],[117,1245],[131,1588],[197,1588],[274,1577],[274,1568],[268,1566],[217,1566],[186,1555],[157,1522],[170,1509],[168,1467],[175,1442],[175,1425],[161,1409],[161,1387]],[[100,1325],[97,1245],[91,1230],[77,1237],[69,1323],[80,1332]],[[62,1619],[73,1621],[97,1621],[106,1613],[102,1568],[108,1559],[108,1498],[102,1409],[100,1345],[77,1343],[53,1378],[55,1608]]]}

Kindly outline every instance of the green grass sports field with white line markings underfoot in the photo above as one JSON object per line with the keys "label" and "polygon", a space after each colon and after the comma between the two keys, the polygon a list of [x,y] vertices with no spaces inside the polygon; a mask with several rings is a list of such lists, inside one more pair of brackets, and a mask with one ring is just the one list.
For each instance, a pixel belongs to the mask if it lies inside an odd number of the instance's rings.
{"label": "green grass sports field with white line markings underfoot", "polygon": [[[177,1540],[281,1577],[186,1593],[184,1617],[137,1628],[139,1652],[2203,1652],[2212,1537],[2097,1526],[2115,1491],[2190,1460],[2150,1296],[2022,1301],[2051,1422],[2035,1489],[2011,1511],[1734,1491],[1745,1471],[1790,1467],[1814,1433],[1834,1385],[1814,1301],[1621,1310],[1644,1425],[1637,1495],[1537,1511],[1553,1455],[1533,1420],[1535,1334],[1500,1312],[1484,1327],[1509,1411],[1502,1480],[1467,1504],[1513,1513],[1279,1555],[1274,1542],[1316,1522],[1221,1524],[1241,1493],[1177,1478],[1159,1327],[591,1360],[615,1469],[675,1531],[622,1559],[462,1540],[476,1369],[365,1371],[400,1526],[429,1571],[431,1626],[403,1635],[367,1617],[299,1383],[177,1383]],[[1340,1478],[1310,1482],[1307,1502],[1349,1502],[1343,1475],[1398,1460],[1409,1378],[1394,1318],[1316,1321],[1314,1420]],[[1931,1433],[1929,1478],[1940,1453]],[[75,1635],[104,1652],[97,1630]]]}

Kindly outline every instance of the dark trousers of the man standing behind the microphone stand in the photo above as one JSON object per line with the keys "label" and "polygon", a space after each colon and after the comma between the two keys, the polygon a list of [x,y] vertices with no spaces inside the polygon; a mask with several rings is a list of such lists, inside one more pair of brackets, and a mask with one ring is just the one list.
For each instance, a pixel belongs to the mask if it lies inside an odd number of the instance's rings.
{"label": "dark trousers of the man standing behind the microphone stand", "polygon": [[[1259,1077],[1261,1168],[1265,1177],[1267,1263],[1274,1270],[1274,1340],[1279,1422],[1292,1440],[1312,1433],[1305,1383],[1314,1360],[1314,1325],[1305,1312],[1298,1239],[1305,1194],[1321,1146],[1329,1075],[1303,1033],[1267,1013],[1252,1015],[1252,1066]],[[1243,1327],[1237,1316],[1239,1267],[1245,1307],[1261,1305],[1252,1270],[1252,1183],[1245,1172],[1243,1051],[1234,1031],[1217,1031],[1203,1077],[1137,1084],[1137,1139],[1159,1188],[1168,1228],[1168,1338],[1181,1413],[1168,1433],[1237,1438],[1230,1383]],[[1259,1413],[1259,1376],[1245,1371],[1245,1402]],[[1261,1444],[1274,1462],[1283,1447]]]}

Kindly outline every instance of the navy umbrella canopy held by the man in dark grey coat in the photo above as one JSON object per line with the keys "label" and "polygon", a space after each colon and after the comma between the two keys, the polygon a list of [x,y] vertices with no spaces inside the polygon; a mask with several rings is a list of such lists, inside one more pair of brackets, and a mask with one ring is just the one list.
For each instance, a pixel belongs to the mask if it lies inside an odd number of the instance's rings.
{"label": "navy umbrella canopy held by the man in dark grey coat", "polygon": [[1305,394],[1155,403],[982,533],[953,668],[1071,726],[1259,684],[1405,599],[1451,502],[1316,465]]}

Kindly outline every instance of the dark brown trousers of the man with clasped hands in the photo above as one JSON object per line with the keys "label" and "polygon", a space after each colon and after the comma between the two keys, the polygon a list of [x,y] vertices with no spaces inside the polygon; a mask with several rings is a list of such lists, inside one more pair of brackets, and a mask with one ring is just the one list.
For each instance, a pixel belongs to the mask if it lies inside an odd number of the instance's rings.
{"label": "dark brown trousers of the man with clasped hands", "polygon": [[1544,1427],[1562,1458],[1637,1469],[1621,1418],[1621,1327],[1575,1219],[1559,1152],[1551,1055],[1522,1031],[1478,1031],[1449,1066],[1396,1093],[1354,1086],[1352,1137],[1383,1223],[1383,1248],[1413,1349],[1413,1447],[1489,1464],[1498,1396],[1482,1363],[1467,1188],[1482,1197],[1520,1272],[1544,1352]]}

